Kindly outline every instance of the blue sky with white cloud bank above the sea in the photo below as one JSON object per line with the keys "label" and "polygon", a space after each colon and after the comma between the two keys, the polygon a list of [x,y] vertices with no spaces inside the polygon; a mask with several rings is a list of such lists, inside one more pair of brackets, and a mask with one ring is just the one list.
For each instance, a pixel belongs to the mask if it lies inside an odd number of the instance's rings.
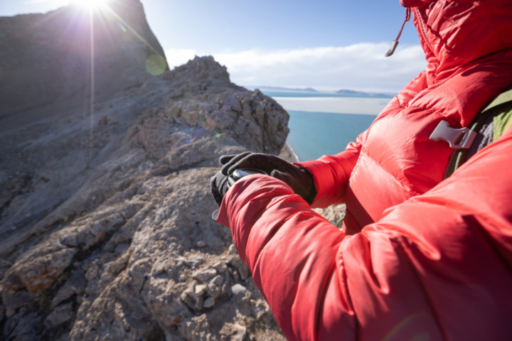
{"label": "blue sky with white cloud bank above the sea", "polygon": [[[0,0],[0,16],[46,13],[70,2]],[[395,54],[384,57],[405,18],[398,0],[141,2],[171,69],[213,55],[244,87],[393,93],[426,65],[412,21]]]}

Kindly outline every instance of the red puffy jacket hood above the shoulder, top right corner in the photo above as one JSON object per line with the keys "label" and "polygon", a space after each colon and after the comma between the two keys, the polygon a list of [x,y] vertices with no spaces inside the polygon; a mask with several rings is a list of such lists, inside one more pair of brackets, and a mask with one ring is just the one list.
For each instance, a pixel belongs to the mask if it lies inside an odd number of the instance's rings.
{"label": "red puffy jacket hood above the shoulder, top right corner", "polygon": [[512,48],[511,0],[400,0],[410,8],[432,85],[462,65]]}

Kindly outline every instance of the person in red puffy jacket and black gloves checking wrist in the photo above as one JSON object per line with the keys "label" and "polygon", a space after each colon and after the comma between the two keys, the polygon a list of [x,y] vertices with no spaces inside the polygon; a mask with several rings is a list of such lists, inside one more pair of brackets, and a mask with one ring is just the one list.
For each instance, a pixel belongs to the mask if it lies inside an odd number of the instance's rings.
{"label": "person in red puffy jacket and black gloves checking wrist", "polygon": [[[337,155],[223,156],[217,221],[289,340],[512,340],[512,129],[446,179],[466,146],[431,139],[511,87],[512,1],[400,4],[425,70]],[[341,202],[343,229],[311,210]]]}

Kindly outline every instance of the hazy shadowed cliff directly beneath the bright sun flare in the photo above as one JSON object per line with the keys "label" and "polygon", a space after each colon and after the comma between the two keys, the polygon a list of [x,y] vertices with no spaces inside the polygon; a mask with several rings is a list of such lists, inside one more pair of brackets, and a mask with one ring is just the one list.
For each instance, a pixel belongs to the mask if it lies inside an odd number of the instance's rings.
{"label": "hazy shadowed cliff directly beneath the bright sun flare", "polygon": [[[164,62],[164,50],[139,0],[112,0],[101,11],[66,6],[0,17],[0,117],[70,99],[75,107],[90,95],[92,79],[95,96],[105,99],[144,80],[146,69],[155,73],[157,61]],[[166,69],[164,63],[160,73]]]}

